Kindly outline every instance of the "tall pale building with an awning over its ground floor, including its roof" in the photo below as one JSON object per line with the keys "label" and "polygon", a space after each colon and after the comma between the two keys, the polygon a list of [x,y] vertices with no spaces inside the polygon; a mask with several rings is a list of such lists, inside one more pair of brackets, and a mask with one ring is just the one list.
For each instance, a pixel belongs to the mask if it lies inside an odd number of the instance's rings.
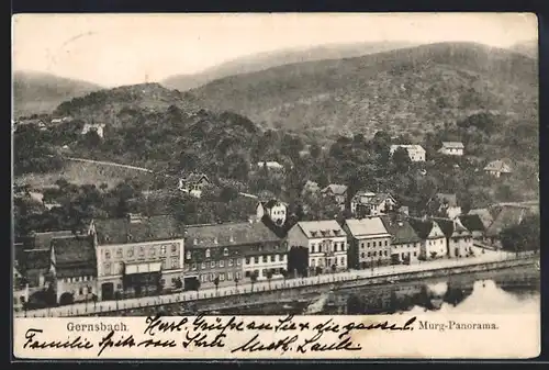
{"label": "tall pale building with an awning over its ground floor, including its roof", "polygon": [[172,216],[96,220],[92,227],[100,300],[178,288],[184,240]]}

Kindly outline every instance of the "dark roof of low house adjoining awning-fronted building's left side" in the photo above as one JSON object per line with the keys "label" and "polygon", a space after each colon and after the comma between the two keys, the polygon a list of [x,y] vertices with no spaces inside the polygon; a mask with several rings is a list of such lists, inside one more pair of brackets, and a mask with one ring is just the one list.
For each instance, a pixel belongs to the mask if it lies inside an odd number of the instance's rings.
{"label": "dark roof of low house adjoining awning-fronted building's left side", "polygon": [[55,239],[52,248],[58,278],[97,276],[96,248],[91,237]]}

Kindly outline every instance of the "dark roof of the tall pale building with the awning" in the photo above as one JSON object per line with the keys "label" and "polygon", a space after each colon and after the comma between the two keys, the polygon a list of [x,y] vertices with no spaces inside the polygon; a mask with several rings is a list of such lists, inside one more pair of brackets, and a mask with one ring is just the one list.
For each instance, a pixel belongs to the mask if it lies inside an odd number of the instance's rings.
{"label": "dark roof of the tall pale building with the awning", "polygon": [[157,215],[131,222],[124,218],[96,220],[98,243],[126,244],[154,240],[180,239],[183,237],[182,225],[171,215]]}

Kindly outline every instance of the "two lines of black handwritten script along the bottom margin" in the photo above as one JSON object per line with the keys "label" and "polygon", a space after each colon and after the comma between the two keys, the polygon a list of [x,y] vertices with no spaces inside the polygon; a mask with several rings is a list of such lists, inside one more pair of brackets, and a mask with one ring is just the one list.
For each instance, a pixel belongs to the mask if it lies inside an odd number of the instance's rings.
{"label": "two lines of black handwritten script along the bottom margin", "polygon": [[226,348],[232,354],[285,352],[307,354],[326,351],[357,351],[362,349],[360,333],[365,330],[413,330],[416,317],[404,324],[382,322],[335,322],[327,318],[314,324],[307,317],[285,316],[273,319],[236,316],[197,316],[145,318],[143,330],[114,330],[101,333],[101,339],[88,339],[86,333],[65,335],[52,340],[55,333],[43,328],[29,328],[24,333],[23,348],[32,350],[91,350],[98,357],[120,348],[155,350],[180,348]]}

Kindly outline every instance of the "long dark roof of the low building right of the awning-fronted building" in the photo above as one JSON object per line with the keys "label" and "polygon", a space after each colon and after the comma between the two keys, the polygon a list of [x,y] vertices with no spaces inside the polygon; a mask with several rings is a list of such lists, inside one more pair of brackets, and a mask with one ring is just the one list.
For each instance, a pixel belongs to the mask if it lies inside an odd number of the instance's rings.
{"label": "long dark roof of the low building right of the awning-fronted building", "polygon": [[280,240],[281,238],[262,222],[189,225],[187,226],[187,236],[184,238],[186,247],[195,248],[248,245]]}

